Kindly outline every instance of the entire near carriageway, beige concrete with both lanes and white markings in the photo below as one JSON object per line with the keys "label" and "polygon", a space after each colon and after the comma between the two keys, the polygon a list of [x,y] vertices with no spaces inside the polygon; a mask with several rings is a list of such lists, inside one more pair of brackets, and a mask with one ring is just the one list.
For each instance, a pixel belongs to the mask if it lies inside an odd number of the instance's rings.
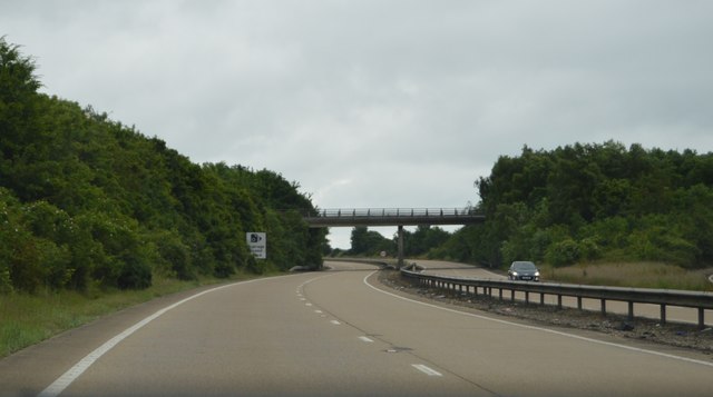
{"label": "entire near carriageway, beige concrete with both lanes and white markings", "polygon": [[369,265],[330,266],[158,299],[66,333],[0,360],[0,395],[710,396],[713,389],[710,356],[416,301],[382,287]]}

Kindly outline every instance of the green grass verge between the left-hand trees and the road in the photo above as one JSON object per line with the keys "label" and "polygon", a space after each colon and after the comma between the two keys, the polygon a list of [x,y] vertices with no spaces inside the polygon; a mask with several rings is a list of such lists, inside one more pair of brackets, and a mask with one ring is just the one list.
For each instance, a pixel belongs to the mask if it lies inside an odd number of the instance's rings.
{"label": "green grass verge between the left-hand trees and the road", "polygon": [[[229,281],[255,277],[241,274]],[[91,289],[84,294],[64,290],[0,295],[0,358],[120,309],[160,296],[226,281],[216,278],[179,281],[155,277],[154,285],[144,290]]]}

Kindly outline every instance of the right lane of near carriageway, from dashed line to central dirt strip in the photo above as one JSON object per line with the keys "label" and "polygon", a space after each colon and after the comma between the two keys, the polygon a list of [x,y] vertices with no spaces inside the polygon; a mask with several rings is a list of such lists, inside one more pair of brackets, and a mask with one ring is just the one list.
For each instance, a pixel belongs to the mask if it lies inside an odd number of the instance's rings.
{"label": "right lane of near carriageway, from dashed line to central dirt strip", "polygon": [[[409,354],[438,371],[497,395],[709,395],[713,387],[709,358],[704,358],[707,366],[688,367],[678,359],[628,350],[606,337],[551,333],[477,311],[463,314],[462,309],[387,299],[350,288],[354,282],[352,275],[344,274],[330,284],[310,285],[307,292],[318,301],[329,301],[324,307],[344,322],[410,349]],[[334,289],[342,291],[343,299],[329,299]],[[685,379],[694,373],[696,380]]]}

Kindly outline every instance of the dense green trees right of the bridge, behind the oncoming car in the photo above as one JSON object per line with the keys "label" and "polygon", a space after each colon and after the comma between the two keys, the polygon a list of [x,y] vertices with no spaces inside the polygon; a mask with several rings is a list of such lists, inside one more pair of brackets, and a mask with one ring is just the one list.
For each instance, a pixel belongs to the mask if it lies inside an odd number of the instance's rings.
{"label": "dense green trees right of the bridge, behind the oncoming car", "polygon": [[713,153],[608,141],[500,157],[476,182],[487,222],[436,257],[565,266],[596,260],[713,264]]}

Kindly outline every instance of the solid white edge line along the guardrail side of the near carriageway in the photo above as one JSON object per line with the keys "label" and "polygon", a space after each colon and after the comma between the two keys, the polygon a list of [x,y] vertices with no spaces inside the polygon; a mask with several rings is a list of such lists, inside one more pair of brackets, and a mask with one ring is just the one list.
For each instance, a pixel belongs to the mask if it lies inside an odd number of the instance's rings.
{"label": "solid white edge line along the guardrail side of the near carriageway", "polygon": [[475,318],[479,318],[479,319],[482,319],[482,320],[488,320],[488,321],[494,321],[494,322],[499,322],[499,324],[506,324],[506,325],[515,326],[515,327],[519,327],[519,328],[533,329],[533,330],[538,330],[538,331],[541,331],[541,333],[555,334],[555,335],[564,336],[564,337],[567,337],[567,338],[584,340],[584,341],[588,341],[588,343],[592,343],[592,344],[617,347],[617,348],[625,349],[625,350],[643,353],[643,354],[648,354],[648,355],[658,356],[658,357],[672,358],[672,359],[675,359],[675,360],[686,361],[686,363],[692,363],[692,364],[699,364],[699,365],[703,365],[703,366],[706,366],[706,367],[713,367],[713,363],[703,361],[703,360],[696,360],[694,358],[681,357],[681,356],[670,355],[670,354],[666,354],[666,353],[661,353],[661,351],[655,351],[655,350],[647,350],[647,349],[642,349],[642,348],[638,348],[638,347],[626,346],[626,345],[621,345],[621,344],[614,344],[614,343],[611,343],[611,341],[597,340],[597,339],[587,338],[587,337],[579,336],[579,335],[574,335],[574,334],[567,334],[567,333],[563,333],[563,331],[558,331],[558,330],[554,330],[554,329],[540,328],[540,327],[535,327],[535,326],[527,326],[527,325],[524,325],[524,324],[517,324],[517,322],[511,322],[511,321],[507,321],[507,320],[501,320],[501,319],[498,319],[498,318],[476,315],[476,314],[472,314],[472,312],[455,310],[455,309],[450,309],[450,308],[447,308],[447,307],[437,306],[437,305],[427,304],[427,302],[418,301],[418,300],[414,300],[414,299],[406,298],[406,297],[402,297],[402,296],[399,296],[399,295],[395,295],[395,294],[391,294],[391,292],[385,291],[383,289],[379,289],[379,288],[372,286],[371,284],[369,284],[369,281],[367,281],[367,279],[369,277],[371,277],[372,275],[374,275],[375,272],[378,272],[378,271],[379,270],[374,270],[374,271],[370,272],[369,275],[367,275],[367,277],[364,277],[364,279],[363,279],[363,282],[367,286],[369,286],[369,288],[371,288],[373,290],[377,290],[377,291],[379,291],[381,294],[385,294],[385,295],[389,295],[389,296],[398,298],[398,299],[407,300],[407,301],[410,301],[410,302],[413,302],[413,304],[418,304],[418,305],[428,306],[428,307],[431,307],[431,308],[434,308],[434,309],[439,309],[439,310],[445,310],[445,311],[450,311],[450,312],[455,312],[455,314],[459,314],[459,315],[463,315],[463,316],[475,317]]}

